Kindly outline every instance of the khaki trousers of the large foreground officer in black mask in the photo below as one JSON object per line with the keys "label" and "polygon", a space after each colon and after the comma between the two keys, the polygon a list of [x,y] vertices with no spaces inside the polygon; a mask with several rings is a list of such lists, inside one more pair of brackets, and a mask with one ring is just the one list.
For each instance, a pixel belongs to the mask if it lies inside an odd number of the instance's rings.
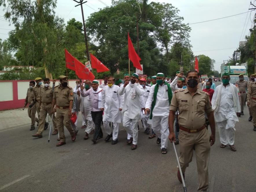
{"label": "khaki trousers of the large foreground officer in black mask", "polygon": [[192,161],[193,148],[195,146],[199,185],[197,191],[206,191],[209,185],[208,164],[210,158],[210,142],[207,129],[203,129],[197,133],[189,133],[180,130],[178,138],[180,151],[179,161],[182,172],[185,172],[189,163]]}

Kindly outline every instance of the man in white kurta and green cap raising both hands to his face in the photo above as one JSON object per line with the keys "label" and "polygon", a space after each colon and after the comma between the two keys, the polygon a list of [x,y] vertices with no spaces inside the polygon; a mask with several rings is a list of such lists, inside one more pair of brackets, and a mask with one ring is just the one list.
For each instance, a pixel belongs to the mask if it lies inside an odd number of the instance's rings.
{"label": "man in white kurta and green cap raising both hands to his face", "polygon": [[138,141],[138,120],[140,115],[140,99],[139,96],[143,94],[143,88],[136,80],[139,78],[137,73],[133,73],[129,81],[120,86],[119,95],[124,95],[123,126],[126,132],[133,137],[130,138],[128,144],[132,143],[132,150],[137,148]]}

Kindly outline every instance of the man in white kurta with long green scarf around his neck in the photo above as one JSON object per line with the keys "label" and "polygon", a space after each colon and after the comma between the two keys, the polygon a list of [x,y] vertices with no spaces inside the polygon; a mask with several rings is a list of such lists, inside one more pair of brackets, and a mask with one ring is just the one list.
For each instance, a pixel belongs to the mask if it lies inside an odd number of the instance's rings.
{"label": "man in white kurta with long green scarf around his neck", "polygon": [[[155,86],[157,84],[159,88],[156,95],[155,106],[152,111],[152,102],[154,99]],[[170,89],[170,92],[171,92],[171,89]],[[168,129],[169,105],[170,105],[170,102],[168,97],[168,87],[167,87],[167,84],[164,83],[164,74],[157,73],[156,84],[151,86],[150,93],[148,95],[148,100],[146,102],[146,114],[149,113],[151,110],[152,129],[158,136],[156,143],[157,144],[161,143],[162,154],[167,153],[167,143],[168,143],[168,136],[169,136],[169,129]]]}

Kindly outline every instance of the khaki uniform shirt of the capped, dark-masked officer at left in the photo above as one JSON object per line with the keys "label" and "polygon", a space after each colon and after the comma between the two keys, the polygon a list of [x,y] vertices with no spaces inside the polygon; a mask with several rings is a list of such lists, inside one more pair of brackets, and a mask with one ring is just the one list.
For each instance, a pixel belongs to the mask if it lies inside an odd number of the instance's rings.
{"label": "khaki uniform shirt of the capped, dark-masked officer at left", "polygon": [[54,87],[53,98],[56,99],[56,104],[59,107],[69,106],[69,101],[73,101],[73,89],[70,86],[60,87],[60,85]]}

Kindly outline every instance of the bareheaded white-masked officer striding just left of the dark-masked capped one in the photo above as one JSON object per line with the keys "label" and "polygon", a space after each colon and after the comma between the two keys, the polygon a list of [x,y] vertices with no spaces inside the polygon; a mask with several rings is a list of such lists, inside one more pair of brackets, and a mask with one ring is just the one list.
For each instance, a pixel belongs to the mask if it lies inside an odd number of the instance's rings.
{"label": "bareheaded white-masked officer striding just left of the dark-masked capped one", "polygon": [[[55,86],[56,79],[53,80],[53,87]],[[32,135],[33,137],[39,137],[42,138],[42,132],[44,130],[44,125],[45,125],[45,117],[47,113],[51,117],[51,103],[53,99],[53,94],[54,94],[54,88],[52,88],[50,85],[50,80],[49,78],[44,79],[44,87],[41,88],[41,97],[40,97],[40,119],[38,123],[38,130],[37,133]],[[58,128],[56,125],[56,120],[55,120],[55,114],[53,113],[53,118],[52,118],[52,123],[54,126],[54,132],[52,135],[58,134]]]}

